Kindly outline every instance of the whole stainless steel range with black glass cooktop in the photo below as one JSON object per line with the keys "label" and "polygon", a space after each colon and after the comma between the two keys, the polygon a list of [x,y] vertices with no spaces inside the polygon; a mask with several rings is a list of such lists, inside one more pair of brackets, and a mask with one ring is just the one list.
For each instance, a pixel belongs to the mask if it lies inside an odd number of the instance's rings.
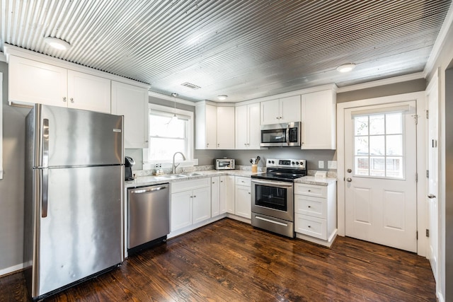
{"label": "whole stainless steel range with black glass cooktop", "polygon": [[293,184],[306,175],[306,161],[269,158],[266,166],[252,175],[252,226],[294,238]]}

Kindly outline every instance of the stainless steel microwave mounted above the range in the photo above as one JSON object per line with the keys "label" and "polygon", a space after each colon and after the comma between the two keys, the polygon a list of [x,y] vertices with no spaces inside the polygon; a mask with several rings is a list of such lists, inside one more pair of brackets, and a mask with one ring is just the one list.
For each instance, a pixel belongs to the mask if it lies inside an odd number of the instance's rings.
{"label": "stainless steel microwave mounted above the range", "polygon": [[260,126],[260,146],[300,146],[300,124],[300,122],[262,124]]}

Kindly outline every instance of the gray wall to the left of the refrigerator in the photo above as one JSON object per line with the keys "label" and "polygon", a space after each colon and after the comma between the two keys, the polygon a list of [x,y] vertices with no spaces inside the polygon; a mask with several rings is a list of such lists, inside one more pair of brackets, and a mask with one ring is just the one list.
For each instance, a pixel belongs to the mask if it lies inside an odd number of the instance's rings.
{"label": "gray wall to the left of the refrigerator", "polygon": [[8,65],[3,73],[3,166],[0,180],[0,270],[23,262],[23,178],[25,116],[30,109],[8,105]]}

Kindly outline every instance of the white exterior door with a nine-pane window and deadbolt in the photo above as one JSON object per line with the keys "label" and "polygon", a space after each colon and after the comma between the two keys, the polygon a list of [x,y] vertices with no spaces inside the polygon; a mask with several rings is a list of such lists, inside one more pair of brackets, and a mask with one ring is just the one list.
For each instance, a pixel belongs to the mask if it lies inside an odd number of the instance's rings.
{"label": "white exterior door with a nine-pane window and deadbolt", "polygon": [[417,251],[415,101],[345,110],[345,235]]}

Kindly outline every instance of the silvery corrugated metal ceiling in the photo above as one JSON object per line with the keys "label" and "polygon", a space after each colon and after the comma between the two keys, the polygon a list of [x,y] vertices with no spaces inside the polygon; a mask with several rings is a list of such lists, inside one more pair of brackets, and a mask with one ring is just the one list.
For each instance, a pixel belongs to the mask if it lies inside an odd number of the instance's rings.
{"label": "silvery corrugated metal ceiling", "polygon": [[[423,71],[450,2],[3,0],[0,50],[6,42],[187,100],[241,101]],[[47,36],[72,47],[52,50]],[[355,71],[339,74],[348,62]]]}

